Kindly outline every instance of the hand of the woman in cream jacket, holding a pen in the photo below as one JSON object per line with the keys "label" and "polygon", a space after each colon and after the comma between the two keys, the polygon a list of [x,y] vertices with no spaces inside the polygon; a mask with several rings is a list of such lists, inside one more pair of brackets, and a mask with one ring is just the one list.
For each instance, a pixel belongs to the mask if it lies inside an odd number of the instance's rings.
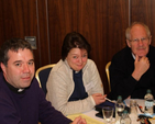
{"label": "hand of the woman in cream jacket, holding a pen", "polygon": [[96,105],[104,102],[106,101],[106,97],[107,97],[107,94],[102,95],[101,93],[95,93],[95,94],[92,94],[92,98],[93,98],[93,100],[96,102]]}

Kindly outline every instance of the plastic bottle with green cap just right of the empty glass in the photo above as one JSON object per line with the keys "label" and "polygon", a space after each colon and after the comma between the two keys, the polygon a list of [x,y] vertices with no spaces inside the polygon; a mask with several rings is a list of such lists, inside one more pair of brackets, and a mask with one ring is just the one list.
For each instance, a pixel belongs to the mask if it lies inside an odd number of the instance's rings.
{"label": "plastic bottle with green cap just right of the empty glass", "polygon": [[120,120],[121,120],[122,113],[124,111],[124,108],[125,108],[125,105],[122,101],[122,97],[119,95],[118,101],[115,103],[115,124],[120,124]]}

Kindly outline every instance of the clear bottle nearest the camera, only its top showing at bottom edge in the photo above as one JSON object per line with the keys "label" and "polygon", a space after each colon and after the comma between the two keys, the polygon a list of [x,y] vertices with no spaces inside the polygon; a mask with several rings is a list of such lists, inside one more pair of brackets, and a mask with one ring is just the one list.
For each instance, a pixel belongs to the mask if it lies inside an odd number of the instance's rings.
{"label": "clear bottle nearest the camera, only its top showing at bottom edge", "polygon": [[126,110],[123,111],[123,114],[120,120],[120,124],[131,124],[131,119]]}

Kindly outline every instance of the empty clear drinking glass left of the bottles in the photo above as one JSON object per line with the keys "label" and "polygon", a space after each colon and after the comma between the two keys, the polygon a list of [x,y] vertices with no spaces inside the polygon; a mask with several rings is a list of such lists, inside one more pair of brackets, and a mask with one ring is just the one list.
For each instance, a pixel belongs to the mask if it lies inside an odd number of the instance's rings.
{"label": "empty clear drinking glass left of the bottles", "polygon": [[107,122],[107,124],[110,124],[112,122],[112,117],[113,117],[113,108],[112,106],[103,106],[102,113],[103,113],[103,119]]}

